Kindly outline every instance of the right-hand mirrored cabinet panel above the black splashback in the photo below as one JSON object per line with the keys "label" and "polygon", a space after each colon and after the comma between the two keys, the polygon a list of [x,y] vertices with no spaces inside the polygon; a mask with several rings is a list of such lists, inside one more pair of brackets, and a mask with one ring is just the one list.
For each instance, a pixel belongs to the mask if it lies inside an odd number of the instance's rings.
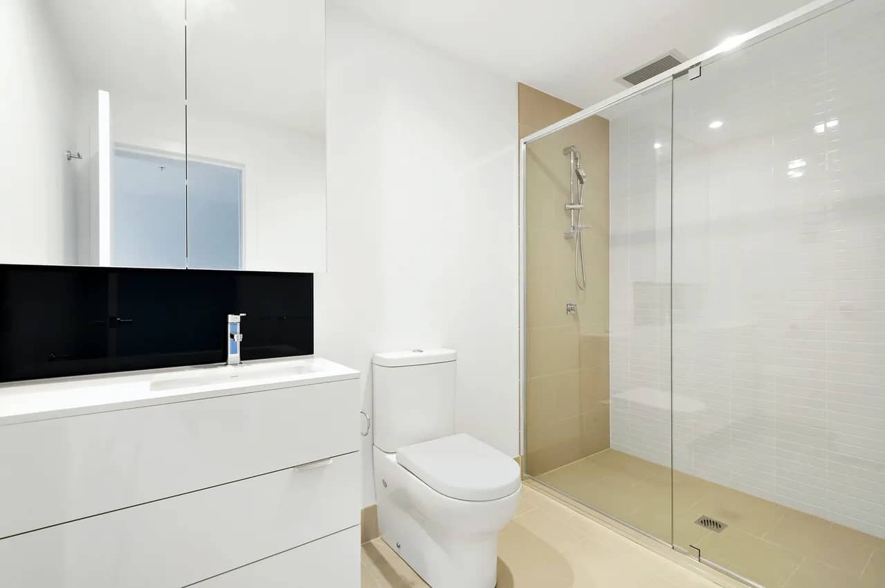
{"label": "right-hand mirrored cabinet panel above the black splashback", "polygon": [[325,269],[324,35],[323,0],[188,0],[189,267]]}

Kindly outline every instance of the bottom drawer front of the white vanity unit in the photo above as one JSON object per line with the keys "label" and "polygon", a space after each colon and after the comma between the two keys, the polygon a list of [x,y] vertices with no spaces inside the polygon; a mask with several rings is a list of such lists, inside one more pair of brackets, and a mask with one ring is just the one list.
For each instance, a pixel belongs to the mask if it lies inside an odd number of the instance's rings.
{"label": "bottom drawer front of the white vanity unit", "polygon": [[359,588],[359,527],[194,584],[194,588]]}

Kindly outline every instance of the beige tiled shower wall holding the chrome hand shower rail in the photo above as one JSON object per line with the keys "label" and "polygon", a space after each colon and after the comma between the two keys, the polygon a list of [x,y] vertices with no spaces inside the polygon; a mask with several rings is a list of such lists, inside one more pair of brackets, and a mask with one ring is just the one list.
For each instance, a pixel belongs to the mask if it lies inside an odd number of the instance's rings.
{"label": "beige tiled shower wall holding the chrome hand shower rail", "polygon": [[[519,136],[581,110],[519,84]],[[588,175],[581,224],[586,290],[574,275],[565,205],[574,145]],[[592,117],[527,148],[527,473],[542,474],[609,446],[609,128]],[[566,303],[578,306],[566,313]]]}

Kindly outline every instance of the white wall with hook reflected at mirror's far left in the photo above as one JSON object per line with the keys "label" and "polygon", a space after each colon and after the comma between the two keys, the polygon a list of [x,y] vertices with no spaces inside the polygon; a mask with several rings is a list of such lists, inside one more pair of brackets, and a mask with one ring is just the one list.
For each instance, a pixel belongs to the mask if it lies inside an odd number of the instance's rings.
{"label": "white wall with hook reflected at mirror's far left", "polygon": [[71,76],[42,3],[0,4],[0,258],[76,259]]}

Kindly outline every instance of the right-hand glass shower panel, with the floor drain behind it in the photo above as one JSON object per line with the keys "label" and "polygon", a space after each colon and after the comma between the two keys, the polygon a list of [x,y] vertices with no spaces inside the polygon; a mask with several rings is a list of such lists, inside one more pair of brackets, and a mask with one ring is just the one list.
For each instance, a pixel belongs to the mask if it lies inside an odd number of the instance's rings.
{"label": "right-hand glass shower panel, with the floor drain behind it", "polygon": [[673,87],[673,542],[885,585],[885,5]]}

